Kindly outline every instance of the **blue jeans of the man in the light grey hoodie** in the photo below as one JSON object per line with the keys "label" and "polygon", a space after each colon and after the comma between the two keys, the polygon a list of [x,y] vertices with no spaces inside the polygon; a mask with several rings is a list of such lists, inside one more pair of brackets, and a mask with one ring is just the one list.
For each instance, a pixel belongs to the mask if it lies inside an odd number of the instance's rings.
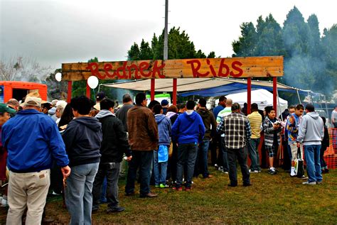
{"label": "blue jeans of the man in the light grey hoodie", "polygon": [[320,182],[323,180],[321,175],[321,163],[319,159],[320,149],[321,145],[304,146],[308,182]]}

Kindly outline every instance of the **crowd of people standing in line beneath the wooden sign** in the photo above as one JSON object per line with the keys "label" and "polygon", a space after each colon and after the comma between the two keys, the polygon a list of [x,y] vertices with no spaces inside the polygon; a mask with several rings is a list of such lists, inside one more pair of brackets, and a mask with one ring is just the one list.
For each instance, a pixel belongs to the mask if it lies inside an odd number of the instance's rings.
{"label": "crowd of people standing in line beneath the wooden sign", "polygon": [[137,180],[141,198],[158,196],[151,184],[191,191],[193,177],[212,177],[209,149],[211,165],[228,174],[228,186],[238,185],[238,163],[242,185],[248,187],[250,173],[262,171],[262,135],[270,175],[277,175],[274,163],[281,144],[291,177],[299,177],[298,162],[305,155],[304,185],[321,184],[321,173],[328,172],[322,157],[329,142],[325,119],[312,104],[292,106],[279,119],[272,106],[261,111],[253,103],[247,114],[247,106],[242,109],[223,96],[213,111],[205,99],[169,106],[166,100],[149,102],[144,93],[135,102],[124,94],[118,108],[102,92],[96,100],[80,96],[69,104],[46,102],[33,93],[21,104],[16,99],[0,104],[0,180],[1,185],[8,181],[3,196],[9,204],[7,224],[21,224],[25,210],[26,223],[41,224],[48,192],[63,194],[70,224],[91,224],[102,199],[107,213],[122,212],[118,181],[125,173],[126,196],[136,194]]}

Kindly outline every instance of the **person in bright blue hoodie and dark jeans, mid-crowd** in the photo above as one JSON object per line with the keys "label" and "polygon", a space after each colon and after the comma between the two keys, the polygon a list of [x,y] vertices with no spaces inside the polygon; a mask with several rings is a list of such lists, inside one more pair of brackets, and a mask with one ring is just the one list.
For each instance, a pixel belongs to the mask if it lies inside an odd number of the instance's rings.
{"label": "person in bright blue hoodie and dark jeans, mid-crowd", "polygon": [[194,111],[196,103],[187,101],[187,111],[178,116],[172,126],[172,141],[178,143],[177,182],[173,190],[182,190],[183,165],[187,165],[186,191],[191,190],[194,165],[198,153],[198,144],[203,141],[205,126],[203,119]]}

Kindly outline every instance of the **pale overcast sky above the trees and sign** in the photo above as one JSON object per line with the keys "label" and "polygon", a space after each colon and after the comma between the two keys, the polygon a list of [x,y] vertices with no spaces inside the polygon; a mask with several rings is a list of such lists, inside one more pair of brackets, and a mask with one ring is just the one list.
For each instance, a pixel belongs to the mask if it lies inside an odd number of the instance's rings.
{"label": "pale overcast sky above the trees and sign", "polygon": [[[126,60],[127,50],[141,39],[151,42],[164,28],[165,0],[0,0],[1,57],[23,56],[43,66],[63,62]],[[181,27],[205,54],[232,55],[240,24],[272,13],[283,26],[296,6],[307,20],[315,13],[319,28],[337,23],[332,0],[169,0],[169,28]]]}

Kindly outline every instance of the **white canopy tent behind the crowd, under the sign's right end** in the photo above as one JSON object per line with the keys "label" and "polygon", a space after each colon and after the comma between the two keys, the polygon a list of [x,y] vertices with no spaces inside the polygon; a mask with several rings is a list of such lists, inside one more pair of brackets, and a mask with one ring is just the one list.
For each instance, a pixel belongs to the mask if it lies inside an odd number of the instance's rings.
{"label": "white canopy tent behind the crowd, under the sign's right end", "polygon": [[[243,106],[247,102],[247,92],[240,92],[236,94],[228,94],[226,96],[228,99],[232,99],[233,102],[237,102],[240,106]],[[266,106],[272,106],[273,104],[273,95],[265,89],[256,89],[252,91],[252,103],[256,103],[259,106],[259,109],[263,110]],[[282,114],[284,109],[288,108],[288,101],[277,98],[277,116]]]}

